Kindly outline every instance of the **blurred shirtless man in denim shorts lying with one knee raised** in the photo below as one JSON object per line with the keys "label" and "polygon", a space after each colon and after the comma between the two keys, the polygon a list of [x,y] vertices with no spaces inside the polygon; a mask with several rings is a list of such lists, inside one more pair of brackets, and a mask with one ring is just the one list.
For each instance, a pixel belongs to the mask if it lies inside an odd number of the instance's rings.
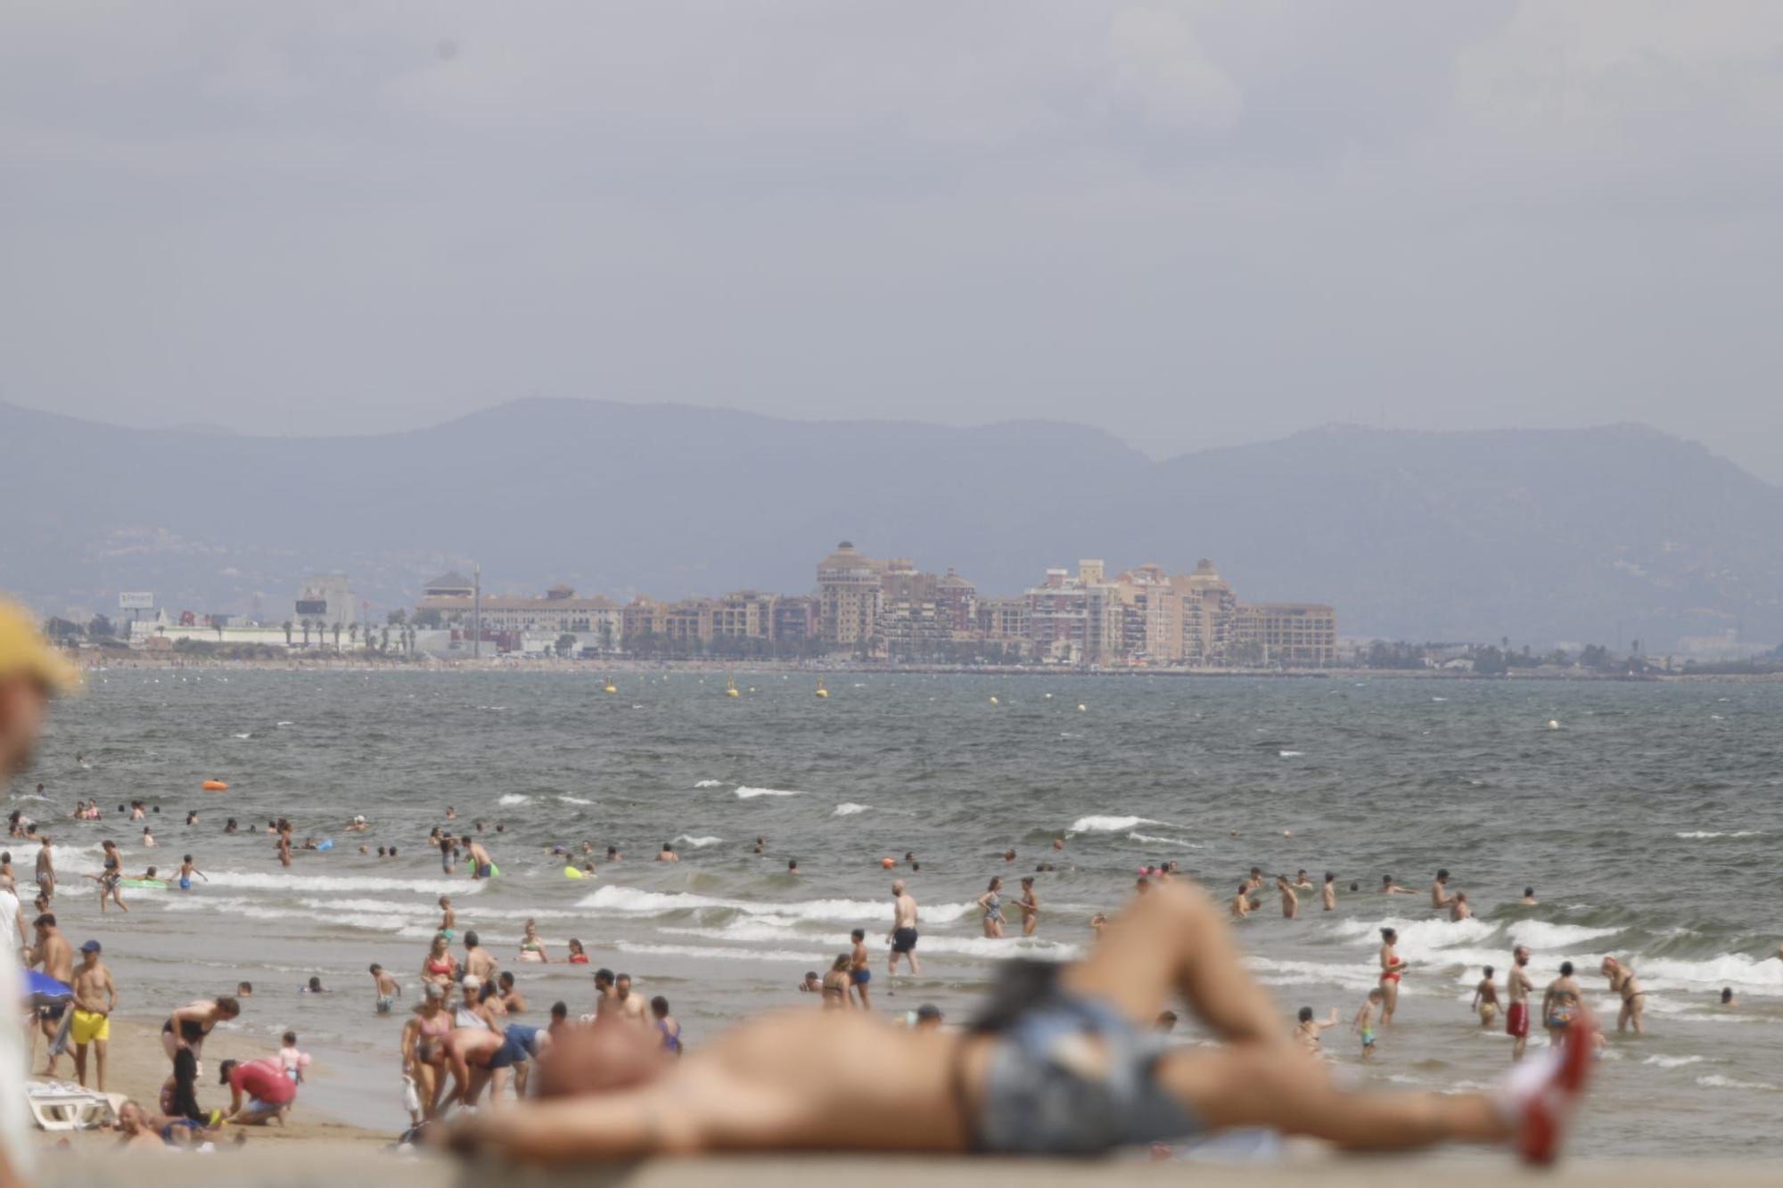
{"label": "blurred shirtless man in denim shorts lying with one knee raised", "polygon": [[[1180,992],[1223,1047],[1163,1047]],[[1011,963],[965,1033],[868,1011],[745,1022],[676,1061],[613,1020],[542,1061],[553,1101],[458,1118],[449,1142],[567,1163],[704,1151],[1098,1154],[1228,1127],[1350,1149],[1514,1143],[1551,1161],[1590,1068],[1590,1036],[1512,1070],[1494,1093],[1346,1092],[1309,1065],[1239,961],[1212,903],[1161,883],[1080,963]],[[1574,1033],[1580,1027],[1573,1029]]]}

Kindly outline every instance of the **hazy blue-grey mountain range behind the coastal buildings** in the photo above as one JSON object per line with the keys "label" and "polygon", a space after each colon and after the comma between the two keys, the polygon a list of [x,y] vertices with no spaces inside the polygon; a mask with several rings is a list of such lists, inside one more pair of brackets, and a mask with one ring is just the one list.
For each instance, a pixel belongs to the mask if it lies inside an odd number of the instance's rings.
{"label": "hazy blue-grey mountain range behind the coastal buildings", "polygon": [[1152,462],[1041,421],[781,421],[521,400],[408,433],[130,430],[0,405],[0,589],[283,615],[341,569],[376,606],[476,557],[489,589],[804,592],[840,539],[1016,592],[1100,557],[1218,562],[1346,635],[1783,639],[1783,489],[1640,426],[1321,428]]}

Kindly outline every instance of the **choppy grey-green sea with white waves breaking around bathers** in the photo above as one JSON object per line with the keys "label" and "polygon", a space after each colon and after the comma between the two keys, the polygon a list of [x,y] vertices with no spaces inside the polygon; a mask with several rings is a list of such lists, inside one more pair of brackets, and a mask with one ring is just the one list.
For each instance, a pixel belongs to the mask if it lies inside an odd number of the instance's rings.
{"label": "choppy grey-green sea with white waves breaking around bathers", "polygon": [[[729,681],[740,696],[726,696]],[[398,972],[412,1002],[442,894],[460,931],[476,929],[515,970],[537,1022],[555,1001],[588,1011],[590,972],[608,967],[665,995],[697,1049],[738,1019],[815,1010],[797,985],[847,949],[849,929],[867,928],[883,953],[893,876],[922,904],[924,972],[893,985],[875,958],[875,1006],[933,1002],[959,1020],[995,961],[1082,956],[1091,915],[1118,910],[1141,867],[1175,862],[1221,901],[1252,865],[1337,876],[1335,912],[1309,897],[1286,920],[1266,890],[1236,928],[1284,1020],[1337,1008],[1344,1026],[1327,1031],[1327,1056],[1357,1085],[1491,1085],[1508,1040],[1467,1002],[1482,967],[1501,981],[1512,945],[1526,944],[1537,985],[1571,960],[1612,1031],[1574,1151],[1783,1152],[1783,685],[826,681],[818,697],[808,672],[633,671],[606,692],[583,665],[102,669],[55,706],[9,812],[53,829],[62,928],[75,944],[103,942],[123,1015],[155,1022],[250,979],[255,995],[232,1026],[269,1047],[298,1031],[321,1070],[305,1099],[392,1134],[405,1124],[401,1019],[373,1013],[367,967]],[[205,780],[228,790],[203,792]],[[87,797],[103,821],[68,821]],[[141,824],[119,812],[132,799],[152,806],[159,847],[144,849]],[[481,822],[499,878],[442,874],[424,842],[448,806],[458,829]],[[346,831],[355,813],[369,831]],[[228,817],[239,833],[225,835]],[[266,833],[275,817],[333,847],[282,869]],[[130,913],[102,917],[77,878],[98,869],[102,838],[123,847],[130,874],[191,853],[209,881],[127,892]],[[583,842],[622,858],[565,878],[551,847]],[[679,863],[654,862],[663,842]],[[378,858],[378,846],[398,856]],[[29,878],[30,846],[11,847]],[[986,938],[974,899],[990,876],[1007,879],[1007,903],[1016,878],[1048,862],[1038,935]],[[1439,867],[1476,919],[1430,910]],[[1375,894],[1384,874],[1419,895]],[[1524,887],[1539,906],[1519,904]],[[574,936],[592,965],[515,963],[528,919],[553,958]],[[1364,1065],[1348,1020],[1375,985],[1384,926],[1400,931],[1414,972]],[[1596,972],[1605,954],[1646,985],[1644,1038],[1614,1035],[1615,1001]],[[312,976],[330,994],[300,994]],[[1191,1022],[1179,1038],[1211,1042]]]}

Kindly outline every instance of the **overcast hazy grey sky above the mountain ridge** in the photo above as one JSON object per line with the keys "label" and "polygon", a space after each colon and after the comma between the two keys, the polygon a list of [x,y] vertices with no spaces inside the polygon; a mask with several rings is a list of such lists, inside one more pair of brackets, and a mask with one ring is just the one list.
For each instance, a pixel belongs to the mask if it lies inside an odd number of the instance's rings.
{"label": "overcast hazy grey sky above the mountain ridge", "polygon": [[1639,419],[1783,480],[1783,5],[0,7],[0,400]]}

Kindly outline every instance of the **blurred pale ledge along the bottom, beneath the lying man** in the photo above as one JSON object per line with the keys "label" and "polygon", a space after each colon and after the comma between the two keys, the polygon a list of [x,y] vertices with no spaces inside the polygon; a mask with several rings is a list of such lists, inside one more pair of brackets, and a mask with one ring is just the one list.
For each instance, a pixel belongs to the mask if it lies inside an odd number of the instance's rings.
{"label": "blurred pale ledge along the bottom, beneath the lying man", "polygon": [[927,1156],[752,1156],[651,1159],[533,1172],[472,1165],[439,1156],[396,1156],[367,1147],[303,1143],[280,1149],[218,1151],[216,1154],[136,1154],[45,1151],[45,1188],[141,1188],[178,1181],[182,1186],[260,1184],[264,1188],[490,1188],[490,1184],[603,1184],[606,1188],[1132,1188],[1136,1177],[1195,1188],[1380,1188],[1441,1184],[1503,1188],[1507,1183],[1567,1188],[1671,1188],[1712,1181],[1717,1188],[1771,1188],[1774,1163],[1606,1163],[1578,1161],[1551,1172],[1524,1172],[1508,1158],[1467,1159],[1293,1156],[1280,1163],[1136,1163],[1130,1159],[938,1159]]}

